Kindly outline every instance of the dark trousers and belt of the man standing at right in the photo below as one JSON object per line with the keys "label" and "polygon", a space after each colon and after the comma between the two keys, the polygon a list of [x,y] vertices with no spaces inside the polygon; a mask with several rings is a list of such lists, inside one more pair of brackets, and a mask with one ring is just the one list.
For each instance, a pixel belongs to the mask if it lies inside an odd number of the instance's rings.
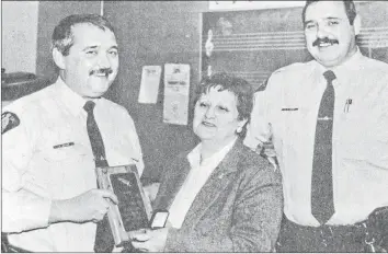
{"label": "dark trousers and belt of the man standing at right", "polygon": [[376,208],[366,220],[349,226],[307,227],[284,216],[276,249],[278,252],[388,252],[388,206]]}

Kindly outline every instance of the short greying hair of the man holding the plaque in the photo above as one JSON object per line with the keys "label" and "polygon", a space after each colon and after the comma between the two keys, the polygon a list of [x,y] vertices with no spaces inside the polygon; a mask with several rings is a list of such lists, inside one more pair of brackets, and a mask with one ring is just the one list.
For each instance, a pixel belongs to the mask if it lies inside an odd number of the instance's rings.
{"label": "short greying hair of the man holding the plaque", "polygon": [[52,36],[52,49],[57,48],[64,56],[68,56],[75,43],[72,27],[77,24],[91,24],[103,31],[109,28],[114,33],[112,24],[99,14],[75,14],[62,19],[55,26]]}

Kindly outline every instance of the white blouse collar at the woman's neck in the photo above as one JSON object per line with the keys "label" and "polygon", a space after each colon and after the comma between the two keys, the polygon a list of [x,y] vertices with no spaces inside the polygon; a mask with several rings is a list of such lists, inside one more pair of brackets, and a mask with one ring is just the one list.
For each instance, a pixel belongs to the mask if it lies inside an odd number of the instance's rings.
{"label": "white blouse collar at the woman's neck", "polygon": [[202,149],[202,142],[198,143],[189,154],[187,154],[187,160],[191,165],[191,168],[197,168],[199,165],[206,165],[209,163],[216,163],[218,164],[225,155],[231,150],[233,147],[236,140],[238,138],[236,137],[233,140],[231,140],[228,145],[226,145],[224,148],[221,148],[219,151],[214,153],[210,158],[204,160],[201,163],[201,149]]}

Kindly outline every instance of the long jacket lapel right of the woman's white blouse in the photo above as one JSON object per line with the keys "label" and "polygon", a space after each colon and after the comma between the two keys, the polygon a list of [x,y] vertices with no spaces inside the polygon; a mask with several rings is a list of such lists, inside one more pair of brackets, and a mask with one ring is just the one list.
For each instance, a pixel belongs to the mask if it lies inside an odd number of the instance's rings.
{"label": "long jacket lapel right of the woman's white blouse", "polygon": [[213,171],[209,178],[195,197],[182,227],[184,227],[184,224],[196,224],[206,210],[217,200],[218,196],[224,193],[224,189],[228,186],[230,181],[235,178],[233,176],[238,171],[237,164],[242,146],[241,140],[238,139],[232,149]]}

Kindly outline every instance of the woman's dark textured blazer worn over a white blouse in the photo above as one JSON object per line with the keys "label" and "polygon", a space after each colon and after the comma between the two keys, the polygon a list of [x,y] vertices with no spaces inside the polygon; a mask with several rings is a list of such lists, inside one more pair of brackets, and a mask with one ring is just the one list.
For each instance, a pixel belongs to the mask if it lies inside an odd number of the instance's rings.
{"label": "woman's dark textured blazer worn over a white blouse", "polygon": [[[169,209],[190,164],[189,152],[164,170],[155,208]],[[237,140],[195,197],[166,252],[272,252],[283,212],[281,174]]]}

